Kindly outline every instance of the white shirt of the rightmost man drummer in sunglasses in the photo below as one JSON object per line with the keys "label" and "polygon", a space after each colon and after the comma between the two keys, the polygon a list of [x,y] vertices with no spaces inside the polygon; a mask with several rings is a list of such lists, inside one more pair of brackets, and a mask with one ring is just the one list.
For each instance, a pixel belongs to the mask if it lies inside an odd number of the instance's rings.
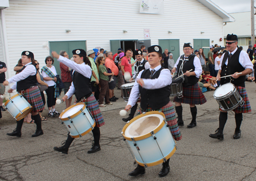
{"label": "white shirt of the rightmost man drummer in sunglasses", "polygon": [[[233,55],[234,53],[236,53],[237,49],[238,48],[236,48],[234,51],[229,52],[229,53],[232,53],[232,55]],[[225,53],[227,53],[227,52],[225,52]],[[223,61],[223,57],[224,57],[225,53],[221,56],[220,70],[221,70],[221,65],[222,65],[222,61]],[[245,69],[251,69],[253,71],[253,64],[250,61],[249,55],[245,51],[243,51],[243,50],[240,52],[240,55],[239,55],[239,63]],[[228,58],[227,58],[225,64],[226,65],[228,64]]]}

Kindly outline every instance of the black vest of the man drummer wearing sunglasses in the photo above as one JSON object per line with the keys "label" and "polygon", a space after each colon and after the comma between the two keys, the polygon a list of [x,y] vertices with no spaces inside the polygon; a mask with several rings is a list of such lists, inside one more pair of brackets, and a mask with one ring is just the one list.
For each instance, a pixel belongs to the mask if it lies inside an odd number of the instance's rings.
{"label": "black vest of the man drummer wearing sunglasses", "polygon": [[[222,65],[221,65],[221,76],[231,75],[236,72],[242,72],[245,70],[245,68],[239,63],[239,55],[240,55],[241,49],[237,49],[237,51],[229,58],[228,52],[224,54]],[[225,62],[228,59],[228,64],[226,66]],[[241,86],[245,87],[245,76],[240,76],[236,79],[233,79],[232,77],[225,77],[221,78],[221,85],[224,85],[226,83],[234,84],[235,86]]]}

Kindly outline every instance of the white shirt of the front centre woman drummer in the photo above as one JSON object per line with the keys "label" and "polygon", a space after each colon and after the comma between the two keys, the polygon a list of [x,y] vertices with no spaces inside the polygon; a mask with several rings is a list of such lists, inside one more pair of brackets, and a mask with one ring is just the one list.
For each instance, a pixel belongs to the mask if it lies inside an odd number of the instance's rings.
{"label": "white shirt of the front centre woman drummer", "polygon": [[[155,67],[155,73],[161,68],[161,65]],[[152,70],[152,68],[150,68],[150,71]],[[139,72],[139,75],[137,76],[137,78],[135,79],[135,83],[134,86],[132,88],[129,100],[127,105],[131,105],[134,106],[139,98],[139,84],[137,83],[137,79],[139,79],[141,77],[141,73],[144,70],[141,70]],[[154,74],[155,74],[154,73]],[[153,74],[153,75],[154,75]],[[163,88],[165,86],[168,86],[170,84],[172,84],[172,75],[170,74],[169,69],[163,69],[160,72],[160,75],[158,78],[155,79],[151,79],[151,78],[142,78],[142,80],[144,81],[144,87],[145,89],[160,89]]]}

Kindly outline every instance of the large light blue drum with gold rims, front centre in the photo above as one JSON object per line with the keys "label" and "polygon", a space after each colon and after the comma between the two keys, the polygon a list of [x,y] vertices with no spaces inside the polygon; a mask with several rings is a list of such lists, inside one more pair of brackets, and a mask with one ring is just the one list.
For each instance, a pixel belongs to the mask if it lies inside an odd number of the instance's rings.
{"label": "large light blue drum with gold rims, front centre", "polygon": [[166,162],[176,151],[176,142],[162,112],[151,111],[136,116],[123,127],[122,135],[141,166]]}

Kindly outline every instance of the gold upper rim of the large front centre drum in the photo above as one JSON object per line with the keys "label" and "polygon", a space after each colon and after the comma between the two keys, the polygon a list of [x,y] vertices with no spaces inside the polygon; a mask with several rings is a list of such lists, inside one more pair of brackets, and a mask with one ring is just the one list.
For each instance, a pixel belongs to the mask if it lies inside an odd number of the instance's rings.
{"label": "gold upper rim of the large front centre drum", "polygon": [[[127,123],[127,124],[124,125],[124,127],[123,127],[123,129],[122,129],[122,135],[123,135],[123,137],[124,137],[125,139],[127,139],[127,140],[132,141],[132,138],[131,138],[131,137],[127,137],[127,136],[124,135],[125,130],[127,129],[128,126],[130,126],[133,122],[135,122],[135,120],[137,120],[137,119],[139,119],[139,118],[141,118],[141,117],[143,117],[143,116],[145,116],[145,115],[148,115],[148,114],[160,114],[160,115],[162,115],[163,118],[165,119],[164,113],[159,112],[159,111],[150,111],[150,112],[146,112],[146,113],[144,113],[144,114],[140,114],[140,115],[134,117],[133,119],[131,119],[129,123]],[[154,131],[155,133],[157,133],[158,131],[160,131],[160,130],[163,128],[164,125],[165,125],[165,122],[163,121],[163,122],[162,122],[158,127],[156,127],[153,131]],[[137,136],[137,137],[133,137],[133,138],[134,138],[135,141],[138,141],[138,140],[142,140],[142,139],[148,138],[148,137],[150,137],[150,136],[152,136],[152,134],[149,132],[149,133],[146,133],[146,134],[144,134],[144,135],[142,135],[142,136]]]}

